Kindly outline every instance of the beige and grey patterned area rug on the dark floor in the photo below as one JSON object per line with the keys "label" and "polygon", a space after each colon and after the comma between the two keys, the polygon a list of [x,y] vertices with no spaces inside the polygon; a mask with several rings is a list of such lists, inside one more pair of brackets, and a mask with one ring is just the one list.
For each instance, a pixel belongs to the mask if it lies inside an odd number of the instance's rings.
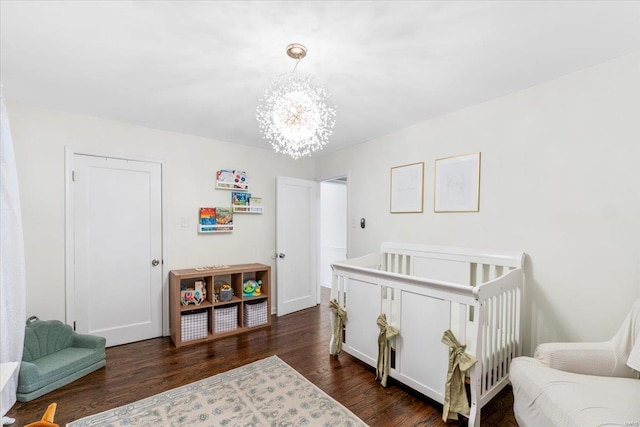
{"label": "beige and grey patterned area rug on the dark floor", "polygon": [[277,356],[67,424],[366,426]]}

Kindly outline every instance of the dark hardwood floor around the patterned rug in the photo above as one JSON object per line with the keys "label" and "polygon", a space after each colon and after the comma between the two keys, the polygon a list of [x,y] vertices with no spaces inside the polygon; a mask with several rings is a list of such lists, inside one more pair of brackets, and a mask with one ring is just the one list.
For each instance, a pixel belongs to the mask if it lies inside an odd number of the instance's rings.
{"label": "dark hardwood floor around the patterned rug", "polygon": [[[463,426],[442,421],[442,405],[390,379],[383,388],[375,372],[342,353],[328,354],[328,292],[320,306],[273,317],[269,329],[176,349],[156,338],[107,349],[107,366],[31,402],[17,402],[7,414],[16,426],[39,420],[58,404],[60,426],[97,412],[277,355],[371,426]],[[507,387],[482,410],[483,426],[517,426]]]}

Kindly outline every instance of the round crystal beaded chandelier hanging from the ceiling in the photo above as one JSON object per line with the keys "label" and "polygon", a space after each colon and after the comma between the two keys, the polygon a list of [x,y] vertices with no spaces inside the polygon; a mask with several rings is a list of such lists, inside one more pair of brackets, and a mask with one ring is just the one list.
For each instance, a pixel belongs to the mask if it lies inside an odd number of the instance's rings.
{"label": "round crystal beaded chandelier hanging from the ceiling", "polygon": [[256,118],[263,138],[277,153],[298,159],[321,150],[329,142],[336,110],[327,106],[329,93],[312,76],[296,72],[307,49],[290,44],[287,55],[297,60],[296,65],[291,73],[280,75],[267,88]]}

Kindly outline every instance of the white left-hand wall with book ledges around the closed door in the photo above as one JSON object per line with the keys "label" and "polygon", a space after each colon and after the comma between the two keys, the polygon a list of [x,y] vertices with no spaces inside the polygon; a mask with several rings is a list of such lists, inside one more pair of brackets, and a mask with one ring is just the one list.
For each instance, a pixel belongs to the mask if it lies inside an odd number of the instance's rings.
{"label": "white left-hand wall with book ledges around the closed door", "polygon": [[[202,265],[261,262],[275,283],[275,178],[312,178],[314,162],[293,161],[270,149],[251,148],[89,116],[7,102],[16,152],[24,221],[27,314],[65,319],[64,153],[97,151],[164,161],[167,170],[166,271]],[[212,117],[212,120],[215,118]],[[222,168],[246,170],[250,192],[262,196],[262,215],[234,215],[229,234],[198,235],[201,206],[229,205],[215,190]],[[188,227],[180,225],[187,219]],[[275,304],[275,294],[272,302]]]}

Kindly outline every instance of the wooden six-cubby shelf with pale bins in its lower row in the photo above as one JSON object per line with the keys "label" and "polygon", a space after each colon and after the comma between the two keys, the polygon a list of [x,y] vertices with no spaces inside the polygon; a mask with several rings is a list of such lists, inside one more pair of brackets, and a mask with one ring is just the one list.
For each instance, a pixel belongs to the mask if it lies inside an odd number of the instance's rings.
{"label": "wooden six-cubby shelf with pale bins in its lower row", "polygon": [[[246,280],[260,282],[260,295],[243,296]],[[182,305],[181,290],[195,289],[203,282],[205,300]],[[228,301],[217,301],[220,284],[233,290]],[[218,285],[218,286],[216,286]],[[224,268],[184,269],[169,272],[169,317],[171,340],[176,347],[207,342],[271,325],[271,267],[239,264]]]}

